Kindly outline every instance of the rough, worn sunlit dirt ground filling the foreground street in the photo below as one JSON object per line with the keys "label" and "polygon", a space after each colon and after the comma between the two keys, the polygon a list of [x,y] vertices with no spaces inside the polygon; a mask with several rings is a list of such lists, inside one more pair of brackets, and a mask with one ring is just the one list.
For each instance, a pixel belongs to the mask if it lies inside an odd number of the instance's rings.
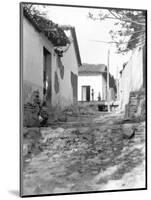
{"label": "rough, worn sunlit dirt ground filling the foreground street", "polygon": [[31,152],[24,148],[24,195],[144,188],[145,124],[122,117],[97,114],[41,128]]}

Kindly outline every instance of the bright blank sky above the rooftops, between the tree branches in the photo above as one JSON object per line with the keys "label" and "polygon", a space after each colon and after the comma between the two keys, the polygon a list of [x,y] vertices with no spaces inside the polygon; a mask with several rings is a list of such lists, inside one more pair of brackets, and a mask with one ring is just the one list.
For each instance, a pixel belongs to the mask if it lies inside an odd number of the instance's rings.
{"label": "bright blank sky above the rooftops, between the tree branches", "polygon": [[115,28],[115,20],[94,21],[88,18],[88,13],[98,13],[98,9],[92,8],[74,8],[63,6],[46,6],[40,10],[45,10],[47,16],[53,22],[59,25],[71,25],[75,27],[80,56],[82,63],[106,64],[107,52],[110,49],[110,67],[109,71],[115,78],[118,78],[118,72],[122,69],[122,64],[129,58],[116,54],[114,45],[98,41],[111,41],[109,31]]}

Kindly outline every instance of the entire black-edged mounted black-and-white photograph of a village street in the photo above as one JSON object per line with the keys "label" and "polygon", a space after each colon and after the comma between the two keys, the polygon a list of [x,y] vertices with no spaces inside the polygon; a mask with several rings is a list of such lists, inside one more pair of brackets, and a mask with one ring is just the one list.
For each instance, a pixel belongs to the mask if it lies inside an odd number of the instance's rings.
{"label": "entire black-edged mounted black-and-white photograph of a village street", "polygon": [[20,3],[20,195],[147,189],[147,10]]}

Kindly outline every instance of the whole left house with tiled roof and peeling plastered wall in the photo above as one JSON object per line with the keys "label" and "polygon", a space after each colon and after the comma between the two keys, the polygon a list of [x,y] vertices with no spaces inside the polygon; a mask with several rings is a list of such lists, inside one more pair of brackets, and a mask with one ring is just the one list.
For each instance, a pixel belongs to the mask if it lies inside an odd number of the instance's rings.
{"label": "whole left house with tiled roof and peeling plastered wall", "polygon": [[81,65],[74,27],[59,27],[24,10],[22,34],[24,104],[37,90],[48,105],[63,108],[73,104]]}

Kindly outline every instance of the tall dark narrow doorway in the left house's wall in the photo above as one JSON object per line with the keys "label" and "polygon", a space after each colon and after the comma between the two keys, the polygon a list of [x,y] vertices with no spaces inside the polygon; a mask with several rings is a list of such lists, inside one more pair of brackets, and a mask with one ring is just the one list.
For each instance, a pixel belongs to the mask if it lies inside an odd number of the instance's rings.
{"label": "tall dark narrow doorway in the left house's wall", "polygon": [[51,84],[51,53],[43,48],[43,100],[47,104],[51,104],[52,84]]}

